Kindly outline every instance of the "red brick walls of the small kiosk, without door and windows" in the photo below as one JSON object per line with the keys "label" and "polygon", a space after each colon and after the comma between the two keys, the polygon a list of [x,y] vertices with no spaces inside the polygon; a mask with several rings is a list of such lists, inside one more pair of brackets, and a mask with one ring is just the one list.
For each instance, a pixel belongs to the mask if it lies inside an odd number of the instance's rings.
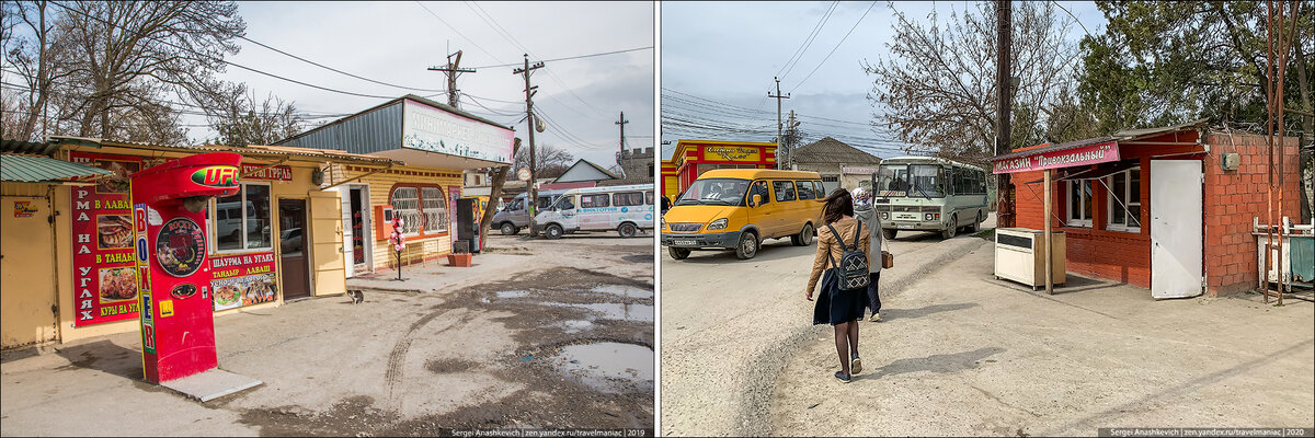
{"label": "red brick walls of the small kiosk, without door and windows", "polygon": [[[1064,231],[1068,246],[1068,271],[1103,279],[1124,281],[1137,287],[1151,287],[1151,158],[1202,160],[1205,187],[1202,209],[1206,221],[1205,233],[1205,275],[1206,293],[1212,296],[1249,291],[1256,287],[1256,239],[1251,234],[1252,218],[1265,221],[1266,205],[1266,146],[1264,135],[1233,133],[1232,139],[1224,133],[1210,133],[1210,154],[1199,153],[1201,147],[1193,130],[1169,133],[1155,138],[1143,138],[1137,145],[1120,143],[1123,159],[1139,159],[1141,167],[1141,230],[1124,233],[1106,230],[1106,188],[1094,184],[1091,193],[1093,226],[1065,226],[1064,183],[1056,182],[1052,188],[1053,204],[1051,226]],[[1285,151],[1283,214],[1299,217],[1297,174],[1297,138],[1289,138]],[[1198,153],[1198,154],[1191,154]],[[1222,170],[1222,154],[1237,153],[1240,166],[1236,171]],[[1177,155],[1185,154],[1185,155]],[[1162,157],[1174,155],[1174,157]],[[1276,162],[1277,166],[1277,162]],[[1057,179],[1057,172],[1053,175]],[[1045,226],[1041,204],[1041,172],[1014,174],[1015,210],[1018,226],[1043,229]],[[1276,174],[1277,183],[1278,176]],[[1276,204],[1278,195],[1274,195]],[[1277,221],[1278,218],[1276,218]]]}

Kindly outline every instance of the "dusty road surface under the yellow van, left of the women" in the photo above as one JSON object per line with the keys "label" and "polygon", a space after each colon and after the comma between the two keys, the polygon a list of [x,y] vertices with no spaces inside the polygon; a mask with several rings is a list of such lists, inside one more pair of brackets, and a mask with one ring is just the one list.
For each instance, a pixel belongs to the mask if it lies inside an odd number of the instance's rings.
{"label": "dusty road surface under the yellow van, left of the women", "polygon": [[[994,226],[993,220],[988,226]],[[967,254],[985,241],[901,233],[886,250],[896,267],[884,291]],[[769,241],[750,260],[696,251],[661,254],[661,433],[760,435],[771,431],[776,377],[800,346],[817,337],[813,303],[803,299],[814,246]]]}

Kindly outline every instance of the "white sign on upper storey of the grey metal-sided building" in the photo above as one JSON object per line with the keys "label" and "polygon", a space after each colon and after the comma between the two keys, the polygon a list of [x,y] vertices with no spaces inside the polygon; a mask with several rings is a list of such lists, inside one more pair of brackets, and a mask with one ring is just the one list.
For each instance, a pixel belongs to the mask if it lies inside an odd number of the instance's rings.
{"label": "white sign on upper storey of the grey metal-sided building", "polygon": [[510,129],[412,100],[402,108],[402,147],[510,164],[513,135]]}

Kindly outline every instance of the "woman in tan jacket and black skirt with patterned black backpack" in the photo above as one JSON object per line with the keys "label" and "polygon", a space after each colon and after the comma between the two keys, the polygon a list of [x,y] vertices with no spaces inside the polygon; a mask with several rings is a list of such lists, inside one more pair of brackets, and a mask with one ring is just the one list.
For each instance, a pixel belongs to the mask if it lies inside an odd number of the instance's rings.
{"label": "woman in tan jacket and black skirt with patterned black backpack", "polygon": [[853,218],[853,199],[843,188],[826,197],[822,222],[827,226],[818,229],[818,253],[813,258],[806,297],[813,301],[813,289],[821,278],[822,291],[813,309],[813,324],[830,324],[835,328],[835,351],[840,358],[840,371],[835,374],[835,379],[849,383],[853,374],[863,371],[863,362],[859,360],[859,320],[863,320],[867,288],[842,288],[838,263],[847,249],[861,250],[872,260],[872,254],[867,254],[871,251],[871,238],[863,230],[865,226]]}

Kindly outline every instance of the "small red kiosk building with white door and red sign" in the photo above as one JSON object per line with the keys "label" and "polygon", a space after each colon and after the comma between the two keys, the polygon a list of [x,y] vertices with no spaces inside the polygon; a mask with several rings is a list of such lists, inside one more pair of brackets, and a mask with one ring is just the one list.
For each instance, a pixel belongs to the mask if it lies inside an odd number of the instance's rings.
{"label": "small red kiosk building with white door and red sign", "polygon": [[[1283,172],[1287,193],[1274,203],[1294,221],[1297,145],[1289,137],[1274,147],[1286,155],[1274,182]],[[1045,228],[1043,172],[1052,172],[1049,221],[1066,237],[1069,272],[1152,296],[1220,296],[1258,281],[1252,230],[1253,220],[1268,221],[1266,154],[1264,135],[1195,121],[1024,147],[993,163],[995,174],[1011,174],[1016,226],[1027,229]]]}

